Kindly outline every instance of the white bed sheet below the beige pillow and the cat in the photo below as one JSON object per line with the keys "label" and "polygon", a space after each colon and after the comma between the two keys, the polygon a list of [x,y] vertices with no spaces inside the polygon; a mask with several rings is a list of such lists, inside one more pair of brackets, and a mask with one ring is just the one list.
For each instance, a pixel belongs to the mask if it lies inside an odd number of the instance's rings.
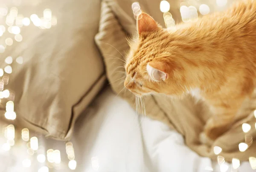
{"label": "white bed sheet below the beige pillow and the cat", "polygon": [[[96,98],[76,123],[72,138],[76,170],[68,169],[64,142],[36,136],[46,150],[61,151],[61,166],[49,172],[210,172],[207,169],[211,168],[220,171],[218,164],[189,149],[183,137],[165,124],[137,117],[110,88]],[[0,145],[4,141],[1,137]],[[24,158],[31,159],[30,168],[22,166]],[[0,172],[38,172],[46,165],[36,160],[36,154],[26,153],[25,142],[18,142],[8,152],[0,150],[0,160]],[[230,171],[231,166],[227,172]],[[253,172],[247,162],[238,171]]]}

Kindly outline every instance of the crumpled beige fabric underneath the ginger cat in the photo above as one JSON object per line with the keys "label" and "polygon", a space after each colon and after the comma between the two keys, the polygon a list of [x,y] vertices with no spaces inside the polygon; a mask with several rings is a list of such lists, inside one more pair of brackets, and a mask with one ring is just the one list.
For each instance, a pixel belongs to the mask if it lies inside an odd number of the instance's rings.
{"label": "crumpled beige fabric underneath the ginger cat", "polygon": [[[119,4],[113,0],[103,0],[99,33],[95,39],[105,59],[107,76],[112,89],[134,107],[135,97],[131,92],[123,89],[124,78],[122,78],[125,76],[125,69],[122,67],[122,60],[124,60],[122,54],[125,54],[129,49],[125,37],[127,32],[131,34],[136,31],[135,20],[132,18],[133,15],[130,9],[131,3],[132,1],[128,0],[122,1],[120,3],[122,8],[120,8]],[[140,1],[140,5],[144,11],[163,24],[162,13],[158,9],[159,1],[151,1],[151,3]],[[149,9],[151,11],[147,11]],[[178,16],[178,6],[172,6],[171,12]],[[177,100],[165,96],[148,96],[144,100],[146,115],[163,121],[180,132],[184,136],[186,144],[199,155],[216,160],[217,156],[213,152],[213,146],[220,146],[223,149],[220,155],[224,156],[226,161],[231,161],[232,158],[248,161],[250,156],[256,155],[256,142],[253,142],[245,152],[240,152],[238,149],[239,143],[244,142],[245,138],[245,134],[241,129],[242,123],[249,123],[252,129],[247,135],[252,135],[253,138],[256,137],[255,129],[253,129],[256,121],[252,113],[253,109],[256,108],[255,99],[245,102],[248,107],[241,111],[240,117],[243,120],[236,122],[233,128],[215,140],[211,147],[199,142],[199,134],[202,132],[204,123],[210,115],[203,103],[195,103],[192,97]],[[248,116],[249,113],[250,115]]]}

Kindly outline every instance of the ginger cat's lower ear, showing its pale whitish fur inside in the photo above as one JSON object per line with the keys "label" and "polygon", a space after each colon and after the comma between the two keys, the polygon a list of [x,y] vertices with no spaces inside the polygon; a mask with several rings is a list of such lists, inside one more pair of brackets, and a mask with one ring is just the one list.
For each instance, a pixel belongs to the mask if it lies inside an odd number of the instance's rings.
{"label": "ginger cat's lower ear, showing its pale whitish fur inside", "polygon": [[147,72],[151,80],[161,81],[168,79],[168,74],[164,69],[164,64],[161,62],[149,62],[147,64]]}

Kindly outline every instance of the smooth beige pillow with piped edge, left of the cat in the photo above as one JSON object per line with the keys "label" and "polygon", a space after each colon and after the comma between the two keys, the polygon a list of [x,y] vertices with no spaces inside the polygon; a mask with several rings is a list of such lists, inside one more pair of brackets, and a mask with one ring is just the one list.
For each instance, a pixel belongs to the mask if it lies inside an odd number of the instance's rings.
{"label": "smooth beige pillow with piped edge, left of the cat", "polygon": [[[9,9],[12,2],[5,0]],[[18,13],[43,17],[46,8],[57,17],[57,25],[50,29],[39,29],[33,23],[21,27],[22,42],[14,41],[6,47],[0,56],[0,68],[6,66],[7,56],[14,58],[13,73],[5,89],[15,92],[17,120],[49,137],[69,140],[76,118],[106,80],[94,42],[100,0],[24,0]],[[5,25],[5,20],[0,22]],[[6,37],[14,38],[7,26],[0,43]],[[23,57],[23,64],[15,62],[19,56]],[[4,110],[2,107],[1,114]]]}

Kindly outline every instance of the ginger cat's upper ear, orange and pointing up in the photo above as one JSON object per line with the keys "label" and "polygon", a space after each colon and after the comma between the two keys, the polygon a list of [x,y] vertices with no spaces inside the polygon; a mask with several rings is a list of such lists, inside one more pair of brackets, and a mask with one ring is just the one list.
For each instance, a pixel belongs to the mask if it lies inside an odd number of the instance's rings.
{"label": "ginger cat's upper ear, orange and pointing up", "polygon": [[142,13],[137,18],[137,29],[138,33],[141,34],[143,32],[154,32],[159,29],[157,22],[148,14]]}

